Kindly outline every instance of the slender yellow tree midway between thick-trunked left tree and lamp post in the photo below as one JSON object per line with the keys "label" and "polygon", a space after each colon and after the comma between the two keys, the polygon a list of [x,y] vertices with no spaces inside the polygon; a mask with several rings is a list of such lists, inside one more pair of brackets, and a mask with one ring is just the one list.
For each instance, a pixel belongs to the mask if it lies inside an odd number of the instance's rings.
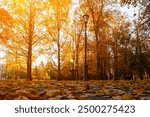
{"label": "slender yellow tree midway between thick-trunked left tree and lamp post", "polygon": [[[48,11],[48,22],[47,30],[50,38],[57,46],[57,66],[58,66],[58,77],[57,80],[61,79],[61,53],[62,45],[65,40],[65,27],[68,23],[68,15],[70,10],[71,0],[49,0],[50,6],[47,8]],[[55,46],[53,45],[53,46]]]}

